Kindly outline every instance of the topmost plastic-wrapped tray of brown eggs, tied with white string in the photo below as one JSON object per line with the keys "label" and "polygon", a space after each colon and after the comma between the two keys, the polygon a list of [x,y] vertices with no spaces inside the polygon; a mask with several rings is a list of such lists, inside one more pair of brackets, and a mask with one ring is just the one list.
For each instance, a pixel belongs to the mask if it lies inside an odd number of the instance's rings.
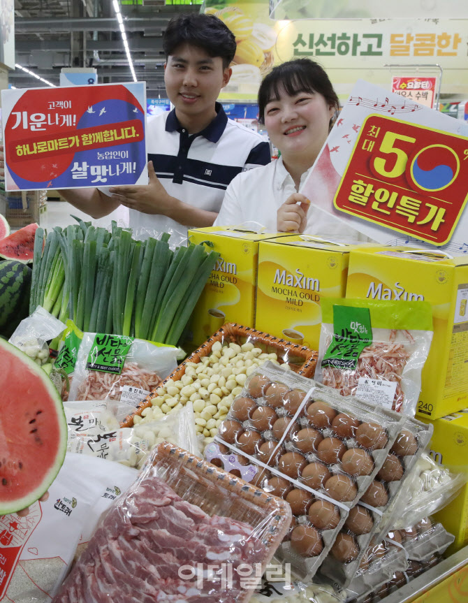
{"label": "topmost plastic-wrapped tray of brown eggs, tied with white string", "polygon": [[281,551],[310,578],[401,422],[400,414],[266,363],[247,379],[205,456],[291,505]]}

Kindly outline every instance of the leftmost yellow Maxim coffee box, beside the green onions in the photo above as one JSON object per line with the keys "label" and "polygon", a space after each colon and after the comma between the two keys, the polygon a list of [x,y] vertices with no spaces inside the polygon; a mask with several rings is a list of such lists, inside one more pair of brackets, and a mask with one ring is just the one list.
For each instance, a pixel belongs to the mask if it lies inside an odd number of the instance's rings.
{"label": "leftmost yellow Maxim coffee box, beside the green onions", "polygon": [[189,242],[212,242],[220,257],[193,310],[187,343],[198,347],[225,322],[254,326],[258,242],[277,233],[258,234],[233,226],[189,230]]}

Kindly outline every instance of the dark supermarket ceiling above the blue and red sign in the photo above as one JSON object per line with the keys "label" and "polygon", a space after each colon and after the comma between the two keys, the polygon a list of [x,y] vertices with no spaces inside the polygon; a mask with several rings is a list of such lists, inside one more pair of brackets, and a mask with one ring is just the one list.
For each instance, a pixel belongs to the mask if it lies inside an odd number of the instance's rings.
{"label": "dark supermarket ceiling above the blue and red sign", "polygon": [[[200,2],[123,0],[122,17],[136,77],[149,97],[165,96],[162,34],[171,17]],[[132,79],[112,0],[15,0],[16,62],[55,85],[62,67],[95,67],[98,82]],[[28,73],[10,71],[17,87],[36,87]]]}

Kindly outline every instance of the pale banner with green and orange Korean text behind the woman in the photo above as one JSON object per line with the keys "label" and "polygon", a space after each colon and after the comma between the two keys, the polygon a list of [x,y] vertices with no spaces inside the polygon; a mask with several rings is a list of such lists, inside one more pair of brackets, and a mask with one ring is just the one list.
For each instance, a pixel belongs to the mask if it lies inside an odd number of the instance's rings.
{"label": "pale banner with green and orange Korean text behind the woman", "polygon": [[295,19],[273,20],[268,0],[207,0],[205,12],[233,31],[237,52],[222,100],[256,99],[258,86],[277,64],[299,57],[318,61],[343,100],[359,78],[391,89],[386,64],[439,64],[442,93],[466,94],[468,20]]}

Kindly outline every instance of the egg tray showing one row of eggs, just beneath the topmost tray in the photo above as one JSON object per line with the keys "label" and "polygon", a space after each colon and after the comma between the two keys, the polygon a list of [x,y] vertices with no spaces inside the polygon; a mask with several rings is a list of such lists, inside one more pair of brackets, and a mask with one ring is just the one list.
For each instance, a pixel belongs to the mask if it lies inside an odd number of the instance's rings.
{"label": "egg tray showing one row of eggs, just beneath the topmost tray", "polygon": [[342,586],[348,586],[360,572],[370,543],[380,543],[394,525],[394,518],[402,511],[394,504],[397,495],[430,441],[432,426],[409,417],[403,425],[359,504],[351,509],[321,567],[325,576]]}

